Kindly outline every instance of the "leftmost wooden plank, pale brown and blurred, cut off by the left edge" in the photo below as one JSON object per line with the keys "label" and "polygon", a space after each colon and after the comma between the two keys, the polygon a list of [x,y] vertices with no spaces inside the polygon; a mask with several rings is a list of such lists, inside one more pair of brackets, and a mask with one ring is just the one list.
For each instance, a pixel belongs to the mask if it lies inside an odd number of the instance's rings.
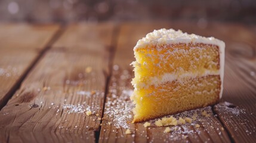
{"label": "leftmost wooden plank, pale brown and blurred, cut off by the left edge", "polygon": [[0,109],[59,26],[0,24]]}

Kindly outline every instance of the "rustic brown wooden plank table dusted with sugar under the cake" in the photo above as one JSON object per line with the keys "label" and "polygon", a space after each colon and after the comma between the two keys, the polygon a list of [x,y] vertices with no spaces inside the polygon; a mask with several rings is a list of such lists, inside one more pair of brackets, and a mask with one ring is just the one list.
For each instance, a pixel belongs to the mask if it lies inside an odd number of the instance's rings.
{"label": "rustic brown wooden plank table dusted with sugar under the cake", "polygon": [[[162,27],[226,42],[220,104],[170,133],[122,121],[131,116],[132,48]],[[255,45],[240,24],[0,24],[0,142],[256,142]]]}

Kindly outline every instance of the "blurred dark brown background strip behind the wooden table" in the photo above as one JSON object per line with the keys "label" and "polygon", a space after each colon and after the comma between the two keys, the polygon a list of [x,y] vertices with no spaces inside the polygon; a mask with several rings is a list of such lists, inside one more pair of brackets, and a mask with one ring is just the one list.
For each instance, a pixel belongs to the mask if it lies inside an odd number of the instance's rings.
{"label": "blurred dark brown background strip behind the wooden table", "polygon": [[256,23],[255,0],[0,0],[0,21],[193,20]]}

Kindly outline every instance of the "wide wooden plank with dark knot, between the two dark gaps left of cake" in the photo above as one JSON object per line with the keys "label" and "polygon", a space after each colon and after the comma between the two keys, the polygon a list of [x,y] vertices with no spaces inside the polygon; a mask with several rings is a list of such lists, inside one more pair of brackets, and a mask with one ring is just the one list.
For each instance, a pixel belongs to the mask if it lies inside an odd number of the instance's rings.
{"label": "wide wooden plank with dark knot, between the two dark gaps left of cake", "polygon": [[[100,33],[97,25],[84,28],[87,26],[78,24],[73,31],[67,27],[58,43],[80,30]],[[113,25],[105,29],[112,33]],[[111,41],[112,36],[98,35],[91,40],[101,38]],[[102,44],[84,43],[82,51],[76,47],[48,51],[0,111],[0,142],[94,142],[103,110],[109,55]],[[86,111],[92,115],[87,116]]]}

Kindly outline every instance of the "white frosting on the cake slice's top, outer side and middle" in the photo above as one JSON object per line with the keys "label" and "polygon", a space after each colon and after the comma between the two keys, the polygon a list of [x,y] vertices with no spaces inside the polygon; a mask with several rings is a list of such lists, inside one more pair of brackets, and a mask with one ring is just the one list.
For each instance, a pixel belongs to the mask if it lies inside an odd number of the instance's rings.
{"label": "white frosting on the cake slice's top, outer side and middle", "polygon": [[[145,38],[140,39],[137,42],[137,45],[134,47],[134,51],[140,48],[145,48],[145,46],[157,46],[162,44],[173,44],[173,43],[205,43],[205,44],[212,44],[217,45],[219,47],[220,52],[220,74],[221,79],[221,89],[220,89],[220,98],[222,97],[223,93],[223,78],[224,78],[224,54],[225,54],[225,43],[213,37],[205,38],[195,34],[187,34],[183,33],[181,30],[175,31],[174,29],[159,29],[154,30],[151,33],[148,33]],[[209,75],[211,73],[206,73],[204,76]],[[215,75],[215,74],[214,74]],[[184,76],[193,76],[186,74]],[[199,75],[196,75],[199,76]],[[154,77],[152,77],[154,78]],[[165,82],[172,81],[180,77],[175,77],[174,74],[166,74],[161,79],[161,82],[164,80]],[[159,80],[159,79],[157,79]],[[156,82],[157,80],[152,79],[152,83]]]}

